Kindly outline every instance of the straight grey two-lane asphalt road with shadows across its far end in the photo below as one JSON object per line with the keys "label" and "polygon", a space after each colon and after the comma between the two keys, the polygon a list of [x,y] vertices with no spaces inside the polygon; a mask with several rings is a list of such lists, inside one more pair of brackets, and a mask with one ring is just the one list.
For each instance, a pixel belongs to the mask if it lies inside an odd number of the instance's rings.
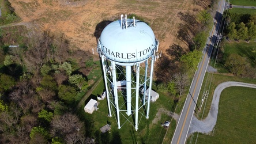
{"label": "straight grey two-lane asphalt road with shadows across its far end", "polygon": [[198,69],[195,71],[192,84],[190,86],[189,94],[182,109],[178,125],[174,132],[174,137],[171,143],[185,143],[187,139],[187,134],[189,132],[190,123],[193,117],[194,109],[196,107],[198,95],[202,86],[202,81],[204,80],[205,72],[209,63],[210,54],[212,53],[214,42],[216,41],[217,31],[220,26],[221,17],[224,11],[225,1],[221,0],[219,2],[218,10],[216,11],[216,16],[214,17],[214,26],[212,31],[209,33],[209,38],[206,42],[206,46],[203,51],[203,56],[198,63]]}

